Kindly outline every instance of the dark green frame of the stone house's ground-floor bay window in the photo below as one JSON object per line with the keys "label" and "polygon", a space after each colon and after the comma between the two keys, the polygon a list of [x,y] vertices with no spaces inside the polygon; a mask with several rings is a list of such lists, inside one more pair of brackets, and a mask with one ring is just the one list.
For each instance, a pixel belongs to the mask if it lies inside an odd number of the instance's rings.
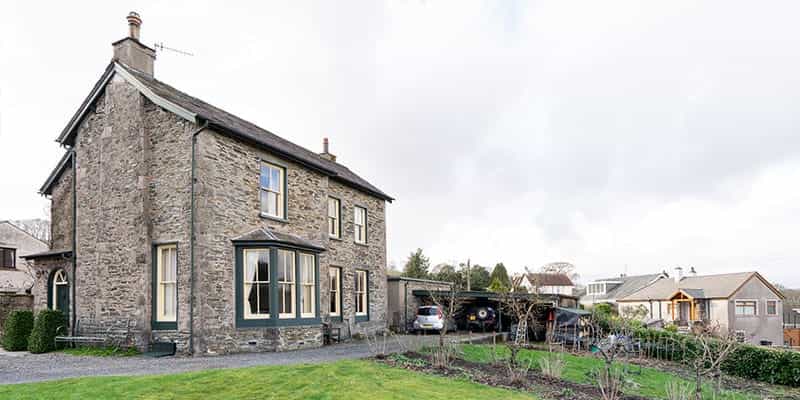
{"label": "dark green frame of the stone house's ground-floor bay window", "polygon": [[[246,260],[245,260],[245,253],[247,251],[253,250],[263,250],[267,251],[269,254],[269,276],[270,280],[267,282],[269,284],[269,310],[271,312],[268,315],[264,315],[262,318],[246,318],[245,317],[245,267],[246,267]],[[234,247],[234,254],[235,254],[235,301],[236,301],[236,328],[263,328],[263,327],[270,327],[270,326],[302,326],[302,325],[317,325],[321,323],[320,314],[319,314],[319,255],[316,252],[309,251],[307,249],[300,249],[300,248],[292,248],[287,246],[275,246],[275,245],[265,245],[263,243],[250,243],[250,244],[238,244]],[[279,255],[280,254],[280,255]],[[281,291],[279,286],[279,260],[278,258],[283,256],[285,257],[287,254],[293,255],[293,280],[291,281],[291,287],[289,288],[291,291],[294,292],[294,295],[291,296],[291,313],[280,313],[279,307],[279,299],[278,296],[282,293],[285,294],[286,290]],[[314,302],[313,302],[313,313],[303,315],[302,314],[302,296],[299,294],[302,293],[302,281],[299,279],[301,277],[301,260],[300,257],[305,256],[312,256],[313,260],[313,271],[314,271]],[[284,263],[285,266],[285,263]],[[287,275],[286,273],[284,276]],[[289,282],[284,280],[284,282]],[[285,288],[285,286],[284,286]],[[290,293],[291,294],[291,293]],[[286,308],[283,310],[285,311]]]}

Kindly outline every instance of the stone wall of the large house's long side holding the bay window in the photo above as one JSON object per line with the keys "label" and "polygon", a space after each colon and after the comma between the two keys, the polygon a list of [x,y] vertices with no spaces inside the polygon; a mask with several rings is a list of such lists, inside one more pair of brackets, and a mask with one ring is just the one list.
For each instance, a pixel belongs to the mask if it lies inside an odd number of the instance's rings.
{"label": "stone wall of the large house's long side holding the bay window", "polygon": [[[286,169],[288,207],[286,220],[260,215],[260,160]],[[299,328],[236,328],[234,304],[234,247],[231,239],[258,227],[293,234],[328,249],[320,256],[320,313],[329,313],[328,267],[342,268],[343,321],[347,336],[386,326],[386,236],[384,202],[275,154],[226,136],[204,132],[198,139],[197,172],[197,315],[199,352],[222,353],[251,349],[294,348],[290,332],[301,330],[300,347],[317,346],[319,326]],[[342,202],[342,239],[327,234],[327,199]],[[353,206],[367,208],[368,243],[353,240]],[[223,222],[224,221],[224,222]],[[369,321],[356,323],[355,270],[369,271]],[[276,339],[277,335],[277,339]]]}

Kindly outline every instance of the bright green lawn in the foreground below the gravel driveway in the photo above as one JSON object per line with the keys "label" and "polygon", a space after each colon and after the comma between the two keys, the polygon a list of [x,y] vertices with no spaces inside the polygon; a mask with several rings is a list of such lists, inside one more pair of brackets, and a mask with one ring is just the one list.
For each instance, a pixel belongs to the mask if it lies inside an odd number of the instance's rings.
{"label": "bright green lawn in the foreground below the gravel driveway", "polygon": [[533,399],[371,361],[0,385],[0,399]]}

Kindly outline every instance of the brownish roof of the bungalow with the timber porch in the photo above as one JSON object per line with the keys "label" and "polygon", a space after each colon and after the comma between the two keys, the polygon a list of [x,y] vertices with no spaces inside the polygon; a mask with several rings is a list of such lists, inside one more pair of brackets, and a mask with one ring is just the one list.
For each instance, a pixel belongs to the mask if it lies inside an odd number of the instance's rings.
{"label": "brownish roof of the bungalow with the timber porch", "polygon": [[[752,277],[761,279],[767,286],[775,290],[757,272],[737,272],[730,274],[686,276],[675,282],[675,279],[661,279],[652,285],[631,293],[619,301],[667,300],[682,290],[686,294],[700,299],[728,298]],[[778,292],[779,293],[779,292]]]}

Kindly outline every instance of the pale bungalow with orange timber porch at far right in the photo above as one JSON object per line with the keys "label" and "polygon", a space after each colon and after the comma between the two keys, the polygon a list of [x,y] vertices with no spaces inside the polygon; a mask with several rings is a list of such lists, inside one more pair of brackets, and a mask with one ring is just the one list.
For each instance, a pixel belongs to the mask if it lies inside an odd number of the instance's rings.
{"label": "pale bungalow with orange timber porch at far right", "polygon": [[[680,326],[719,325],[753,344],[783,344],[783,294],[758,272],[688,276],[676,268],[661,279],[618,298],[620,312]],[[637,311],[638,310],[638,311]]]}

